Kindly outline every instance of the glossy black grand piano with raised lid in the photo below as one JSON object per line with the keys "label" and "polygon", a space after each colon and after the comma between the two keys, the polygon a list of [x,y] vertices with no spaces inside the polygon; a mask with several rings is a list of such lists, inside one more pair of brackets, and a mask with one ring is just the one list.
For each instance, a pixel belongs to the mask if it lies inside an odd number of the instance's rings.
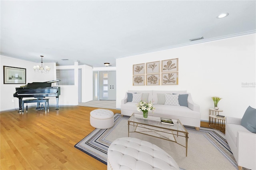
{"label": "glossy black grand piano with raised lid", "polygon": [[27,85],[16,87],[16,92],[13,97],[19,99],[19,110],[22,110],[22,98],[23,97],[34,97],[38,100],[45,97],[56,97],[57,109],[59,108],[59,95],[60,87],[52,87],[52,83],[60,80],[46,81],[46,82],[33,82]]}

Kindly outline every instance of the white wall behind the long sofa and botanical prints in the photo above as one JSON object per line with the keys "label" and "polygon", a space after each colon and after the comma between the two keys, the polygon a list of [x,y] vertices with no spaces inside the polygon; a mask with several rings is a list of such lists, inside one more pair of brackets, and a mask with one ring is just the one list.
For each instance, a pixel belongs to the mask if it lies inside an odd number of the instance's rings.
{"label": "white wall behind the long sofa and botanical prints", "polygon": [[[208,121],[212,96],[222,97],[222,115],[242,117],[256,106],[255,34],[116,59],[116,107],[127,90],[187,90]],[[133,86],[132,65],[179,58],[179,84]],[[242,83],[252,83],[243,86]]]}

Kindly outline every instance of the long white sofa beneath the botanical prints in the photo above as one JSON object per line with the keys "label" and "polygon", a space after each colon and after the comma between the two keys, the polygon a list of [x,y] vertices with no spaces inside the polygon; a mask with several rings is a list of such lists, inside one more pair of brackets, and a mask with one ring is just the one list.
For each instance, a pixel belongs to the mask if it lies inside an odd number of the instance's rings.
{"label": "long white sofa beneath the botanical prints", "polygon": [[[128,101],[128,93],[142,93],[142,101],[152,101],[154,107],[156,108],[154,113],[149,112],[148,115],[157,115],[159,117],[179,119],[183,125],[188,125],[196,127],[197,130],[200,128],[201,113],[199,105],[195,104],[192,101],[190,93],[186,91],[127,91],[124,99],[121,101],[121,114],[131,116],[132,113],[142,113],[138,112],[136,105],[137,102]],[[147,95],[148,94],[148,95]],[[177,106],[177,105],[164,105],[160,103],[160,95],[164,94],[179,94],[179,95],[188,95],[187,105],[186,106]],[[158,101],[159,99],[159,101]],[[162,99],[161,99],[162,100]],[[162,102],[162,101],[161,101]]]}

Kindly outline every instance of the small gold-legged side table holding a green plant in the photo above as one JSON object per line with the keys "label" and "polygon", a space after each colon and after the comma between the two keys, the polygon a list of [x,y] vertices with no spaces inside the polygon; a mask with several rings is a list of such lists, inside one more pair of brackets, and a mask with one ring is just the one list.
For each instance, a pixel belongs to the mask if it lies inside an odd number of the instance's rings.
{"label": "small gold-legged side table holding a green plant", "polygon": [[209,109],[209,127],[225,132],[225,117],[217,117],[219,112],[223,112],[222,110],[216,110],[213,108]]}

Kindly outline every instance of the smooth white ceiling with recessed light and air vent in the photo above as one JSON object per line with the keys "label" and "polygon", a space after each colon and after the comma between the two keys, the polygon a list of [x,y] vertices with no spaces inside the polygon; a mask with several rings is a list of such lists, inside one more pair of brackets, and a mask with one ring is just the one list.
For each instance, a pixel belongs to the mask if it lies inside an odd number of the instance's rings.
{"label": "smooth white ceiling with recessed light and air vent", "polygon": [[[256,30],[255,0],[1,0],[0,6],[1,55],[38,63],[44,55],[56,65],[116,66],[116,58]],[[229,15],[216,18],[223,12]]]}

